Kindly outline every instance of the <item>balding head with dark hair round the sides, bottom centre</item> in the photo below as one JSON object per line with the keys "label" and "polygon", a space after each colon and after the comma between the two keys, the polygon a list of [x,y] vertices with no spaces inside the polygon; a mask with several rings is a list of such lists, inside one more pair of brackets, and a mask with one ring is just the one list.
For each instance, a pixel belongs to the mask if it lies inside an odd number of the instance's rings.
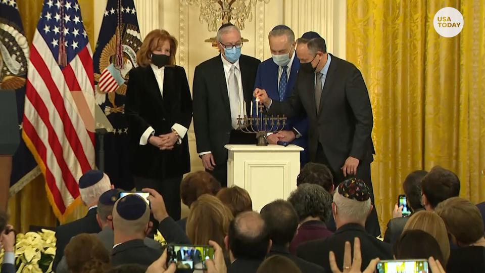
{"label": "balding head with dark hair round the sides, bottom centre", "polygon": [[263,259],[269,246],[269,233],[259,213],[241,212],[231,221],[229,250],[234,258]]}

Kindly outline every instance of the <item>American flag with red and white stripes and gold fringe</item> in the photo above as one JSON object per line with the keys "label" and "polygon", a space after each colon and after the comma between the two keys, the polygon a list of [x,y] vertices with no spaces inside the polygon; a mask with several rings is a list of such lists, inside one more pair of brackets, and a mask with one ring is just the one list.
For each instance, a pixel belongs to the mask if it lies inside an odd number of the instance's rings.
{"label": "American flag with red and white stripes and gold fringe", "polygon": [[77,0],[45,0],[30,48],[22,136],[61,222],[79,200],[79,177],[95,164],[93,82]]}

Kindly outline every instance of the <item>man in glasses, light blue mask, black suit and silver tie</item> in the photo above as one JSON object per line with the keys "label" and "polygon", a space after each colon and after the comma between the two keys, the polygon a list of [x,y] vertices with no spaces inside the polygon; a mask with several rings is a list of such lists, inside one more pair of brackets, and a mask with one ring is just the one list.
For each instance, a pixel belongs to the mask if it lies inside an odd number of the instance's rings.
{"label": "man in glasses, light blue mask, black suit and silver tie", "polygon": [[249,115],[259,60],[241,55],[241,34],[232,24],[217,32],[220,55],[196,67],[193,76],[193,128],[204,168],[227,186],[226,144],[256,144],[254,134],[238,129]]}

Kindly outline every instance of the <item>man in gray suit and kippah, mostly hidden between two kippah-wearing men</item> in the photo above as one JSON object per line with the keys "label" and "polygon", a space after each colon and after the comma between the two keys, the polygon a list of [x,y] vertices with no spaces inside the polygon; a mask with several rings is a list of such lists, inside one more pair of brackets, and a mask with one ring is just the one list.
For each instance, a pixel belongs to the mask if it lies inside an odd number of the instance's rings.
{"label": "man in gray suit and kippah, mostly hidden between two kippah-wearing men", "polygon": [[[100,225],[102,231],[93,236],[98,237],[103,243],[105,248],[111,252],[114,245],[114,233],[113,233],[113,207],[116,201],[119,199],[120,191],[118,189],[109,190],[103,193],[98,201],[98,208],[96,219]],[[143,240],[144,244],[150,248],[162,251],[162,245],[150,238],[145,238]],[[57,266],[57,273],[68,273],[69,269],[67,266],[66,257],[63,256],[61,262]]]}

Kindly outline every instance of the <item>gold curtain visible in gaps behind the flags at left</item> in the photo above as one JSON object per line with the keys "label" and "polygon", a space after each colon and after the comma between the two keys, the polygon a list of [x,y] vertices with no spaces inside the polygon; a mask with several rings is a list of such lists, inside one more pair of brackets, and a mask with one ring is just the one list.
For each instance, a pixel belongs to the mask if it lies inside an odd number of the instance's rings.
{"label": "gold curtain visible in gaps behind the flags at left", "polygon": [[[78,2],[91,49],[94,49],[94,0],[79,0]],[[17,0],[25,36],[29,43],[32,41],[35,28],[37,27],[42,4],[43,1],[40,0]],[[86,210],[84,206],[79,206],[68,217],[68,221],[84,216]],[[45,180],[42,175],[30,181],[20,192],[9,199],[8,213],[10,214],[11,223],[20,232],[29,231],[30,225],[56,226],[56,216],[54,216],[51,205],[47,201]]]}

